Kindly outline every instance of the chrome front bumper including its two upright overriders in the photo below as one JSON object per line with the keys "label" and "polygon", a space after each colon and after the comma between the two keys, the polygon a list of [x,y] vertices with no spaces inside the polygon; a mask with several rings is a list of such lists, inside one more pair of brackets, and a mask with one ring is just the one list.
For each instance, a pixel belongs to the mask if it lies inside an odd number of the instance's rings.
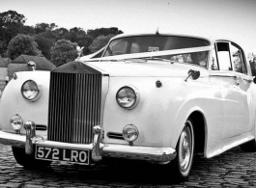
{"label": "chrome front bumper including its two upright overriders", "polygon": [[176,157],[176,150],[174,148],[104,144],[102,143],[103,129],[100,125],[94,126],[94,141],[89,145],[47,141],[45,138],[36,135],[35,124],[33,121],[31,121],[31,123],[26,123],[25,129],[26,135],[0,131],[0,144],[25,148],[27,154],[32,154],[35,146],[86,149],[90,151],[88,153],[91,153],[91,158],[95,162],[102,160],[103,157],[114,157],[166,163]]}

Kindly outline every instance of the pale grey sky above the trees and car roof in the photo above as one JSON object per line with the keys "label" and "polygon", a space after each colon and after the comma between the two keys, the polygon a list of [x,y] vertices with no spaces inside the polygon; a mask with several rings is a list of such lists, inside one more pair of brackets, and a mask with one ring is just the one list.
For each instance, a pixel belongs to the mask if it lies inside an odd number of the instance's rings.
{"label": "pale grey sky above the trees and car roof", "polygon": [[84,31],[118,27],[124,33],[182,34],[234,40],[256,54],[256,0],[0,0],[0,13],[25,25],[55,23]]}

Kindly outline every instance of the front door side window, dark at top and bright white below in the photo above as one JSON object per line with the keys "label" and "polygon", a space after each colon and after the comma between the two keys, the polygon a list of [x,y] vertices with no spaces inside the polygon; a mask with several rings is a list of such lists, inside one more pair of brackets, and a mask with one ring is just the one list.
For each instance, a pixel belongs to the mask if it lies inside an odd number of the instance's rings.
{"label": "front door side window, dark at top and bright white below", "polygon": [[215,43],[215,48],[219,70],[232,70],[232,64],[230,62],[229,43],[217,42]]}

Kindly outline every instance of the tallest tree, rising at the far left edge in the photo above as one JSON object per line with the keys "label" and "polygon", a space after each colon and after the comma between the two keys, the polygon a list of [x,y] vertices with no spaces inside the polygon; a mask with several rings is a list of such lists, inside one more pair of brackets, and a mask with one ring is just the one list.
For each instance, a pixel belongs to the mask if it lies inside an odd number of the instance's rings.
{"label": "tallest tree, rising at the far left edge", "polygon": [[2,43],[0,54],[4,54],[6,52],[8,43],[18,33],[20,33],[20,28],[23,26],[25,21],[26,18],[23,14],[19,14],[14,11],[0,13],[0,40]]}

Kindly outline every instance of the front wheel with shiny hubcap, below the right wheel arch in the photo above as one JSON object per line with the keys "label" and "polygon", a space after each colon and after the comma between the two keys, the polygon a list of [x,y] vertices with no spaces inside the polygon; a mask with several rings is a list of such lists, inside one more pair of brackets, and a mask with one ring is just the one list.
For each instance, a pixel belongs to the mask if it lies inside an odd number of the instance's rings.
{"label": "front wheel with shiny hubcap, below the right wheel arch", "polygon": [[176,147],[177,156],[173,161],[173,170],[179,180],[185,180],[191,170],[194,155],[194,131],[191,120],[185,121],[185,127]]}

